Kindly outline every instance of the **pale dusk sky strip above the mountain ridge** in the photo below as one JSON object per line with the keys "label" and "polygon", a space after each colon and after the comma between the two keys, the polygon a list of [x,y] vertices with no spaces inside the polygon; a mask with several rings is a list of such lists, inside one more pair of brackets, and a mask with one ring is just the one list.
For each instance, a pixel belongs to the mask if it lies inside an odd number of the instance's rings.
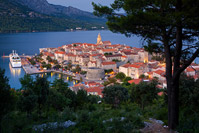
{"label": "pale dusk sky strip above the mountain ridge", "polygon": [[110,5],[114,0],[47,0],[51,4],[72,6],[83,11],[93,12],[92,2],[99,3],[102,5]]}

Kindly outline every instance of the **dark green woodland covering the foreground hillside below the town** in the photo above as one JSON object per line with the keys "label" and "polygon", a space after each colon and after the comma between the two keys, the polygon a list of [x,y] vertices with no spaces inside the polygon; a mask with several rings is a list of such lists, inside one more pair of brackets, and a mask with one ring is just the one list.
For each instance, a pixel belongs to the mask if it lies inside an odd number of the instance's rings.
{"label": "dark green woodland covering the foreground hillside below the town", "polygon": [[[157,80],[137,85],[128,80],[123,77],[122,84],[106,86],[100,98],[71,91],[62,78],[50,84],[46,77],[25,75],[22,88],[13,90],[0,69],[1,132],[140,132],[150,118],[167,125],[167,92],[157,95]],[[177,130],[197,132],[199,80],[182,76],[180,81]],[[73,125],[66,128],[66,121]]]}

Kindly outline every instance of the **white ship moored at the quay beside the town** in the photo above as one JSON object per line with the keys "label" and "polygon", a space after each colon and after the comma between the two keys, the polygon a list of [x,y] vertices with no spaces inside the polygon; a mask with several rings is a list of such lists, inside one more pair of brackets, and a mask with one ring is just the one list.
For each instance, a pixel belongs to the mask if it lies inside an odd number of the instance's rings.
{"label": "white ship moored at the quay beside the town", "polygon": [[13,50],[12,53],[9,55],[9,57],[10,57],[10,63],[13,68],[21,67],[21,58],[16,53],[16,51]]}

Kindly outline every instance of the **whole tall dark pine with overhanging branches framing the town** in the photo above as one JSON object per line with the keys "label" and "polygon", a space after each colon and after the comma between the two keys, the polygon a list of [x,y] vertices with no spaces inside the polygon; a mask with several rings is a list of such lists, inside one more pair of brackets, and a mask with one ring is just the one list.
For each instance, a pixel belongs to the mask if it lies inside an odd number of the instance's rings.
{"label": "whole tall dark pine with overhanging branches framing the town", "polygon": [[[168,122],[179,123],[179,77],[199,54],[199,0],[115,0],[111,7],[93,3],[95,14],[105,16],[113,32],[136,34],[160,43],[166,58]],[[116,13],[123,9],[125,15]],[[153,46],[153,45],[152,45]],[[156,44],[156,46],[158,46]],[[173,72],[172,72],[173,68]]]}

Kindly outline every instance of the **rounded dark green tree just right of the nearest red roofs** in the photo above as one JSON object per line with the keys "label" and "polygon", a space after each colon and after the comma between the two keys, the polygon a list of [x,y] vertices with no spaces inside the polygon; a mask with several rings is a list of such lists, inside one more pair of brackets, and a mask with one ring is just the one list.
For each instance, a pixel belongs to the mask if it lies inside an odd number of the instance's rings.
{"label": "rounded dark green tree just right of the nearest red roofs", "polygon": [[108,104],[112,104],[115,108],[117,108],[121,102],[127,101],[129,98],[128,90],[120,85],[105,87],[102,93],[104,94],[104,101]]}

